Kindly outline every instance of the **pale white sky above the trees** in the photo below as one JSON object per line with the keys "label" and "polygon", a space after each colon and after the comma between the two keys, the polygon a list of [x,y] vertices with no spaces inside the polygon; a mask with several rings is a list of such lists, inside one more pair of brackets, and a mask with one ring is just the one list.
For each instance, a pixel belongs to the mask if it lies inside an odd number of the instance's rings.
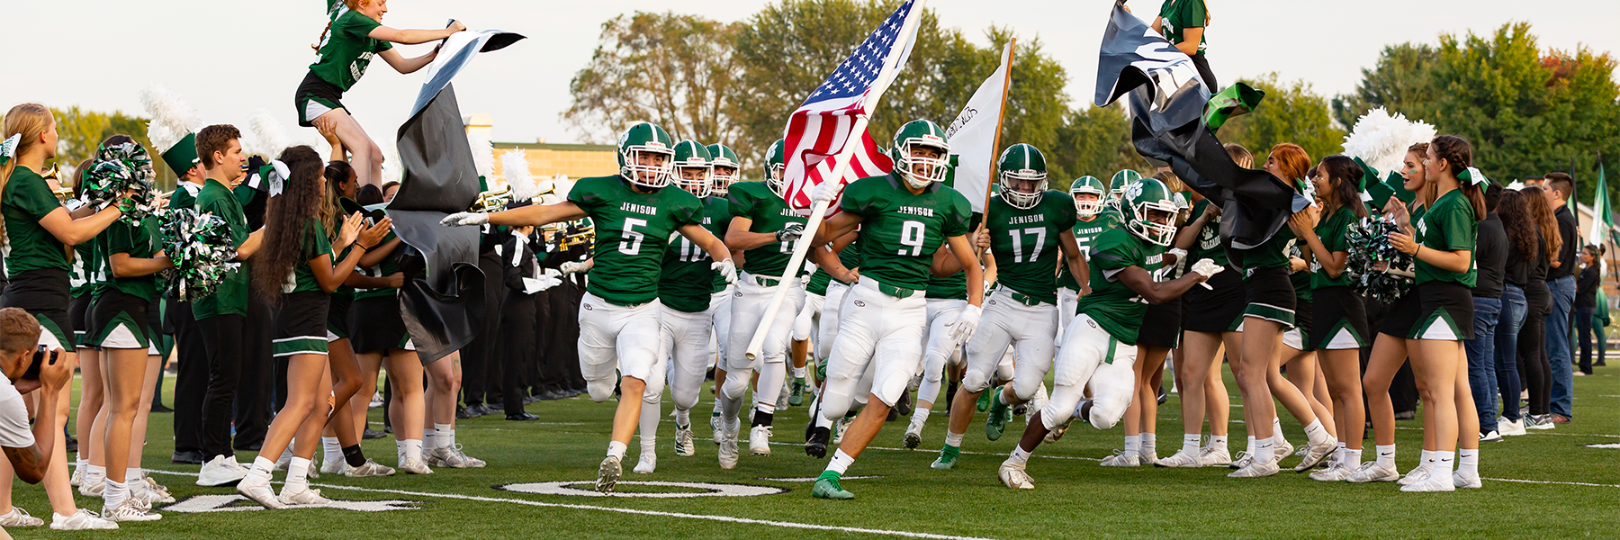
{"label": "pale white sky above the trees", "polygon": [[[1322,94],[1349,92],[1361,70],[1371,68],[1388,44],[1439,44],[1442,32],[1490,34],[1508,21],[1531,23],[1542,49],[1586,45],[1620,55],[1620,3],[1614,0],[1205,2],[1212,15],[1207,57],[1223,84],[1275,71],[1283,81],[1311,83]],[[296,126],[293,91],[314,58],[309,45],[326,26],[324,0],[6,3],[0,50],[8,52],[11,70],[0,76],[0,107],[37,101],[144,115],[136,96],[160,83],[207,123],[245,126],[254,110],[267,109],[295,139],[319,139],[313,128]],[[501,143],[539,138],[606,143],[583,139],[561,117],[569,107],[569,79],[590,63],[603,21],[633,11],[742,21],[765,5],[765,0],[392,0],[382,23],[442,28],[458,18],[473,29],[528,36],[509,49],[480,55],[455,79],[462,112],[492,115],[492,135]],[[988,42],[985,29],[991,24],[1011,28],[1021,41],[1040,39],[1043,52],[1068,70],[1071,102],[1090,101],[1110,0],[928,0],[927,5],[943,26],[957,28],[978,44]],[[1152,16],[1160,0],[1131,0],[1129,6]],[[400,50],[413,57],[429,47]],[[23,60],[31,52],[39,58],[36,66]],[[400,75],[384,62],[373,62],[343,102],[387,149],[421,83],[423,73]],[[782,112],[784,122],[787,114]]]}

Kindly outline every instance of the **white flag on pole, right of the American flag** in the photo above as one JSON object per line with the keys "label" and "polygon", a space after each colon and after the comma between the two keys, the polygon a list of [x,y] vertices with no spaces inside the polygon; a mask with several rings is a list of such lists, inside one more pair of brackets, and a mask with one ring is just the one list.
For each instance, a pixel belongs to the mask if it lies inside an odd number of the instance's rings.
{"label": "white flag on pole, right of the American flag", "polygon": [[1001,66],[991,73],[978,91],[951,120],[944,135],[951,139],[956,161],[956,190],[967,196],[975,212],[985,211],[985,193],[990,193],[990,167],[996,159],[996,128],[1001,126],[1001,97],[1008,91],[1008,70],[1013,63],[1013,44],[1001,50]]}

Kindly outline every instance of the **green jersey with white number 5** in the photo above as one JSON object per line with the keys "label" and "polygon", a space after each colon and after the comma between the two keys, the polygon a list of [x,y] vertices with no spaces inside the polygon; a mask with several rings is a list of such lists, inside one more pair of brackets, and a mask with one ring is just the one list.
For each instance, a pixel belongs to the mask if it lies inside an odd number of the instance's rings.
{"label": "green jersey with white number 5", "polygon": [[682,188],[637,193],[624,177],[580,178],[569,191],[596,222],[596,259],[586,292],[616,305],[658,298],[659,266],[677,229],[703,222],[703,201]]}

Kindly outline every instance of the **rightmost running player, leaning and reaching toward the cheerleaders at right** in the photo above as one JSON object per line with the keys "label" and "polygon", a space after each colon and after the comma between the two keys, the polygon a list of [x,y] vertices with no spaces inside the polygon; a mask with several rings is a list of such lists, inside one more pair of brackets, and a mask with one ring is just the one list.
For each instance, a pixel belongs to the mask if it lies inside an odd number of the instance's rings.
{"label": "rightmost running player, leaning and reaching toward the cheerleaders at right", "polygon": [[[1092,292],[1081,297],[1079,315],[1063,334],[1051,401],[1030,417],[1024,438],[998,470],[1009,488],[1035,488],[1024,470],[1029,456],[1069,418],[1081,417],[1098,430],[1119,422],[1136,389],[1136,334],[1147,303],[1173,302],[1221,269],[1202,259],[1176,281],[1153,281],[1176,234],[1176,203],[1165,183],[1144,178],[1131,183],[1119,206],[1126,227],[1105,230],[1092,246]],[[1087,386],[1092,399],[1082,402]]]}

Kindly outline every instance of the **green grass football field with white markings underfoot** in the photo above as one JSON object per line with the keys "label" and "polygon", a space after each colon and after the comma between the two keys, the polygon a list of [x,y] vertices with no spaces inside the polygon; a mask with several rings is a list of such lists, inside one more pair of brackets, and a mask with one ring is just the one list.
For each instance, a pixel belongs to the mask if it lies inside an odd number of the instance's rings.
{"label": "green grass football field with white markings underfoot", "polygon": [[[198,467],[168,464],[170,415],[152,415],[147,465],[170,486],[178,506],[159,508],[164,519],[125,524],[118,532],[87,532],[99,538],[768,538],[768,537],[927,537],[927,538],[1077,538],[1077,537],[1617,537],[1620,521],[1620,449],[1588,444],[1620,443],[1620,368],[1597,368],[1596,376],[1576,378],[1576,420],[1554,431],[1486,443],[1482,490],[1456,493],[1400,493],[1393,483],[1319,483],[1285,469],[1259,480],[1226,478],[1228,469],[1105,469],[1097,459],[1121,448],[1121,430],[1106,433],[1076,425],[1056,443],[1042,446],[1029,470],[1037,490],[1013,491],[996,480],[996,465],[1016,435],[985,441],[969,431],[956,470],[932,470],[944,436],[944,405],[936,405],[919,451],[899,449],[904,422],[885,426],[876,443],[850,467],[846,488],[854,501],[810,498],[810,482],[826,465],[802,451],[805,409],[778,414],[770,457],[747,454],[734,470],[719,470],[708,441],[710,404],[695,412],[698,456],[671,451],[674,423],[659,433],[659,467],[654,475],[630,474],[635,448],[625,457],[629,482],[701,482],[745,486],[770,495],[753,496],[588,496],[588,480],[608,444],[614,402],[585,397],[530,405],[541,422],[505,422],[499,415],[463,420],[457,438],[467,452],[489,462],[488,469],[436,469],[434,475],[389,478],[311,480],[340,501],[407,501],[356,504],[355,509],[262,511],[246,501],[240,511],[212,509],[235,496],[227,488],[199,488],[191,482]],[[168,378],[173,381],[173,378]],[[1230,383],[1231,392],[1236,386]],[[167,394],[165,394],[167,396]],[[1160,409],[1160,456],[1179,446],[1178,397]],[[1236,407],[1236,396],[1233,397]],[[669,410],[667,401],[664,405]],[[1241,409],[1233,410],[1241,418]],[[381,422],[381,410],[373,410]],[[1009,431],[1022,428],[1014,420]],[[1298,423],[1285,422],[1293,443],[1304,439]],[[381,425],[377,425],[381,428]],[[1418,461],[1419,422],[1401,422],[1400,469]],[[1243,449],[1241,423],[1231,430],[1231,446]],[[394,464],[394,441],[366,441],[368,456]],[[1371,446],[1369,446],[1371,449]],[[253,456],[238,456],[251,462]],[[1285,461],[1291,465],[1293,459]],[[280,478],[282,474],[277,474]],[[795,480],[805,478],[805,480]],[[531,495],[504,485],[582,482],[572,493]],[[672,486],[620,485],[620,493],[697,493]],[[49,504],[39,486],[18,483],[16,504],[45,516]],[[79,498],[100,509],[100,499]],[[376,511],[381,506],[410,509]],[[842,527],[842,529],[839,529]],[[16,537],[73,537],[44,529],[13,529]]]}

